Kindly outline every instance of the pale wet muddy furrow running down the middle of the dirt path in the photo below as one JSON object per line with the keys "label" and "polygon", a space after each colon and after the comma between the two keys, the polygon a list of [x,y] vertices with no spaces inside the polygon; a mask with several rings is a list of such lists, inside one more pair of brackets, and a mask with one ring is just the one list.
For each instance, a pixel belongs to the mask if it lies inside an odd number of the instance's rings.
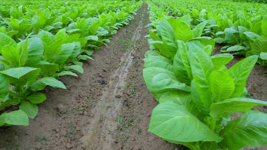
{"label": "pale wet muddy furrow running down the middle of the dirt path", "polygon": [[[143,12],[144,9],[142,7],[140,11]],[[135,21],[139,22],[139,25],[131,38],[134,43],[140,39],[143,27],[142,20],[137,19]],[[117,118],[123,107],[123,102],[119,97],[127,83],[126,79],[129,68],[132,66],[134,50],[133,46],[122,56],[121,62],[118,64],[119,68],[111,76],[109,85],[103,88],[102,96],[91,111],[95,117],[90,119],[88,133],[83,138],[88,150],[113,150],[112,144],[115,142],[113,134],[118,129]]]}

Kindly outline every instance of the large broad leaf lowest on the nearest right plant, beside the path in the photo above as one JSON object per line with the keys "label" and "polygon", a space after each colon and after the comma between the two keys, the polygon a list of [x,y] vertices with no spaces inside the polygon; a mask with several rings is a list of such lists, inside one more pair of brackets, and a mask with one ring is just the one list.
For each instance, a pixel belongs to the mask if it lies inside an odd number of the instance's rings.
{"label": "large broad leaf lowest on the nearest right plant, beside the path", "polygon": [[148,131],[163,139],[179,142],[222,140],[185,108],[170,101],[154,108]]}

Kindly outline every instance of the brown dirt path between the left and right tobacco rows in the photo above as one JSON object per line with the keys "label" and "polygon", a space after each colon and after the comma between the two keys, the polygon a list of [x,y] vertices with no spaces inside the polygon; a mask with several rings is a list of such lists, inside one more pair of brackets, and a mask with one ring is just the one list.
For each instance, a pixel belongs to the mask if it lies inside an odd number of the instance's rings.
{"label": "brown dirt path between the left and right tobacco rows", "polygon": [[0,150],[174,150],[147,132],[157,103],[142,79],[146,12],[96,51],[83,75],[61,78],[68,90],[46,88],[30,126],[0,128]]}

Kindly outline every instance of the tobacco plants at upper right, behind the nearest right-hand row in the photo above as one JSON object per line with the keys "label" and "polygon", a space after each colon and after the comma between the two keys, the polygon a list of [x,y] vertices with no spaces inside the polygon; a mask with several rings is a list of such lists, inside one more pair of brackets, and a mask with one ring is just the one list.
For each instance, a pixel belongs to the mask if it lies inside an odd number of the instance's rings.
{"label": "tobacco plants at upper right, behind the nearest right-hand row", "polygon": [[155,0],[175,17],[187,16],[191,26],[205,23],[203,36],[224,43],[222,52],[258,55],[267,65],[267,4],[228,0]]}

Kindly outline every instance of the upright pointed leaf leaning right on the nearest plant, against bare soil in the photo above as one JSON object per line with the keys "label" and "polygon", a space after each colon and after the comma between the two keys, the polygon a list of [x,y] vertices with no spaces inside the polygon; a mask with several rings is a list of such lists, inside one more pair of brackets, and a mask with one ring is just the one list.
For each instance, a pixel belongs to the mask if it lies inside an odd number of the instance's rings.
{"label": "upright pointed leaf leaning right on the nearest plant, against bare soil", "polygon": [[248,76],[257,60],[258,56],[249,56],[230,68],[229,74],[235,83],[235,90],[231,97],[240,97],[243,94]]}

